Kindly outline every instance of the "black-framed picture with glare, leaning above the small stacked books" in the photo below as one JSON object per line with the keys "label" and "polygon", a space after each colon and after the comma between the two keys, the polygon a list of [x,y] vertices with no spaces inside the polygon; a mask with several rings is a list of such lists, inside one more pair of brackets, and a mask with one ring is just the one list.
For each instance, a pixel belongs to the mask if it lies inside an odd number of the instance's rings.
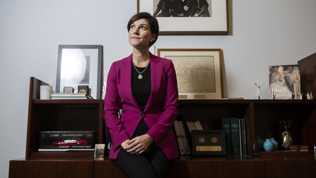
{"label": "black-framed picture with glare, leaning above the small stacked books", "polygon": [[88,85],[90,96],[101,99],[102,53],[102,45],[59,45],[55,92]]}

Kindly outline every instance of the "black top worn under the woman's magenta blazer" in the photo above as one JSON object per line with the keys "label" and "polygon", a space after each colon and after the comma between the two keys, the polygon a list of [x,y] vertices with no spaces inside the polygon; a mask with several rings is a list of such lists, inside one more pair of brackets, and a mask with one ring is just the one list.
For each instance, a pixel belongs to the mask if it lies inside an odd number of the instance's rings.
{"label": "black top worn under the woman's magenta blazer", "polygon": [[[136,68],[140,72],[144,71],[145,69],[139,67]],[[151,93],[150,63],[148,64],[146,71],[141,73],[142,79],[138,78],[139,74],[140,73],[138,73],[132,65],[132,92],[141,110],[144,111]],[[145,121],[141,119],[132,138],[145,134],[148,129],[149,128]]]}

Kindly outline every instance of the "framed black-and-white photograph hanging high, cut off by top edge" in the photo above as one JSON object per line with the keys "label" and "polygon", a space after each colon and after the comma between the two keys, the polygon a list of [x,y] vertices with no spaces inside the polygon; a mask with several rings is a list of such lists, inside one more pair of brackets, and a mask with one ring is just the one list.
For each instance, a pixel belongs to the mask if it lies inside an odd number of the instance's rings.
{"label": "framed black-and-white photograph hanging high, cut off by top edge", "polygon": [[159,34],[228,35],[228,0],[137,0],[137,12],[159,22]]}

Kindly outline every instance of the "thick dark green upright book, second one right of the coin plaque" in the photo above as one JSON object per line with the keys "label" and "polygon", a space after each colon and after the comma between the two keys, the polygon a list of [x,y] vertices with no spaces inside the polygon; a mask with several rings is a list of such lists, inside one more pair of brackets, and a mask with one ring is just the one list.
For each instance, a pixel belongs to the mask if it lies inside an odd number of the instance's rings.
{"label": "thick dark green upright book, second one right of the coin plaque", "polygon": [[240,155],[239,119],[230,118],[230,135],[232,155]]}

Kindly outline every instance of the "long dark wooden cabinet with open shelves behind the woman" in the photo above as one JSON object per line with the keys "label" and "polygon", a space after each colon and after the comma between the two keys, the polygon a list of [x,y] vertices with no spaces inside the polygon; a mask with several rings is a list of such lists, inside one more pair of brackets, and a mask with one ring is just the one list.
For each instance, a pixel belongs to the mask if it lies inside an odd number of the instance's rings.
{"label": "long dark wooden cabinet with open shelves behind the woman", "polygon": [[[9,178],[126,178],[108,158],[95,159],[93,152],[38,152],[39,131],[98,131],[105,143],[103,100],[39,100],[39,86],[48,85],[31,77],[26,155],[10,160]],[[182,156],[168,178],[312,178],[316,177],[314,151],[279,149],[251,156],[256,135],[280,142],[281,120],[294,120],[289,129],[294,144],[316,145],[314,100],[179,100],[179,114],[188,121],[207,122],[221,129],[221,118],[246,120],[247,155]]]}

